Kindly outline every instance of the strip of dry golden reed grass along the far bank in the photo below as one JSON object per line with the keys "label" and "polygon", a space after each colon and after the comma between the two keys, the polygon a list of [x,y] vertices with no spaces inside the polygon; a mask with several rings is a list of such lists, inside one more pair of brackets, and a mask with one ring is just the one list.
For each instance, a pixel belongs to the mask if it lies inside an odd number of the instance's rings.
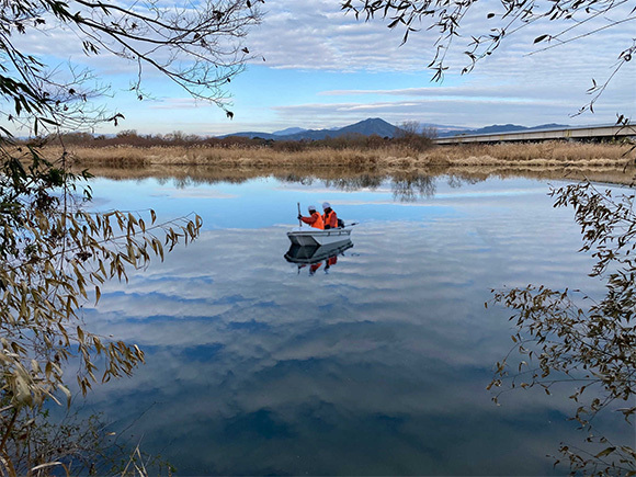
{"label": "strip of dry golden reed grass along the far bank", "polygon": [[[60,147],[48,146],[50,155]],[[87,147],[70,146],[69,157],[80,167],[214,166],[223,169],[348,168],[376,171],[417,171],[432,167],[605,168],[624,167],[629,146],[547,141],[536,144],[461,145],[423,151],[391,145],[375,149],[307,148],[298,151],[260,147]],[[627,156],[626,156],[627,155]]]}

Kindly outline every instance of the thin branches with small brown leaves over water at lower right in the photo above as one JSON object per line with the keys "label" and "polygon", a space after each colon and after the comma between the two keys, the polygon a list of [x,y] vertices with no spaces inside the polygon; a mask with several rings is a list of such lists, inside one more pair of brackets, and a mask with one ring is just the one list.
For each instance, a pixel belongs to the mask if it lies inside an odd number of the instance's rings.
{"label": "thin branches with small brown leaves over water at lower right", "polygon": [[[572,473],[636,475],[633,442],[621,444],[593,438],[594,418],[603,410],[618,411],[633,427],[636,414],[636,214],[634,194],[614,198],[589,182],[553,191],[555,206],[570,205],[581,226],[583,251],[592,251],[591,276],[606,281],[600,302],[580,299],[570,291],[544,286],[497,291],[495,303],[514,310],[514,349],[523,359],[509,374],[509,356],[497,363],[491,386],[541,386],[547,394],[559,383],[576,384],[576,419],[590,432],[593,451],[561,444]],[[495,398],[497,400],[497,397]]]}

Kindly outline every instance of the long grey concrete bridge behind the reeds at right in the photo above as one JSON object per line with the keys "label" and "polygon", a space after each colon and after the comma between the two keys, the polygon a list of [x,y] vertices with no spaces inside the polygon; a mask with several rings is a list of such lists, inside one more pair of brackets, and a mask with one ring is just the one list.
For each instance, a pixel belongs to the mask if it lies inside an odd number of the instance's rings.
{"label": "long grey concrete bridge behind the reeds at right", "polygon": [[474,134],[433,139],[435,144],[467,143],[506,143],[506,141],[540,141],[540,140],[612,140],[626,137],[636,138],[636,125],[629,126],[588,126],[568,127],[567,129],[532,129],[512,133]]}

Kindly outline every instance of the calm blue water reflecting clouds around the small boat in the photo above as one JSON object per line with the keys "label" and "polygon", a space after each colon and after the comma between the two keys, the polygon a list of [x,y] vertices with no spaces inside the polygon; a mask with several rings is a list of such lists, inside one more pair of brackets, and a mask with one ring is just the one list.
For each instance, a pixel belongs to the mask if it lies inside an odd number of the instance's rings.
{"label": "calm blue water reflecting clouds around the small boat", "polygon": [[[583,438],[567,421],[573,386],[509,393],[499,407],[486,390],[513,331],[509,310],[485,308],[491,288],[602,292],[547,183],[92,185],[98,208],[204,220],[195,243],[83,311],[92,330],[147,353],[88,408],[180,475],[567,474],[546,454]],[[285,231],[297,202],[322,201],[360,225],[311,274],[283,258]]]}

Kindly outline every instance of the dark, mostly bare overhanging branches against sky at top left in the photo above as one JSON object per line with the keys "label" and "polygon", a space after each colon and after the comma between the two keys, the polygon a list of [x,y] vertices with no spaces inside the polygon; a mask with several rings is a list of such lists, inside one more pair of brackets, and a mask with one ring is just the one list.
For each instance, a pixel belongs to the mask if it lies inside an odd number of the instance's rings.
{"label": "dark, mostly bare overhanging branches against sky at top left", "polygon": [[130,90],[139,100],[145,95],[144,73],[151,69],[231,117],[225,87],[250,57],[242,39],[260,19],[250,0],[204,0],[170,8],[156,0],[126,8],[86,0],[1,0],[0,98],[8,105],[2,114],[26,122],[35,134],[43,125],[72,129],[123,117],[91,109],[89,100],[104,88],[89,86],[96,80],[90,70],[70,66],[61,75],[59,67],[49,68],[14,42],[16,35],[64,29],[77,35],[78,53],[133,63]]}

